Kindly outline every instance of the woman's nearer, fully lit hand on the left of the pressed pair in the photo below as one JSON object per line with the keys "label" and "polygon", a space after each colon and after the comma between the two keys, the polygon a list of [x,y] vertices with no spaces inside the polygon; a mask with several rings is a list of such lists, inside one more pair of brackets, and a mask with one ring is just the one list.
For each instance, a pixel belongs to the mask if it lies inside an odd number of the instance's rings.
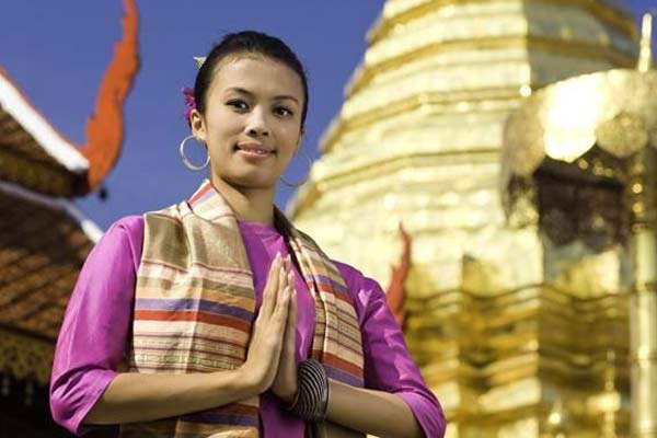
{"label": "woman's nearer, fully lit hand on the left of the pressed pair", "polygon": [[253,323],[246,361],[241,367],[244,379],[258,394],[272,385],[278,371],[290,297],[284,261],[277,254],[269,268],[260,313]]}

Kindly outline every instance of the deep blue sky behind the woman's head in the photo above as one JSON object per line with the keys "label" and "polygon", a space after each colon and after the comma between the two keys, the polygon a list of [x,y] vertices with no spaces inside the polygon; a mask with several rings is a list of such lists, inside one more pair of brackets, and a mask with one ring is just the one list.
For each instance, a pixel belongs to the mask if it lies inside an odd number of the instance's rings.
{"label": "deep blue sky behind the woman's head", "polygon": [[[193,85],[192,56],[204,55],[227,31],[260,30],[281,37],[298,53],[310,77],[311,107],[303,147],[318,155],[318,140],[343,102],[343,90],[365,53],[365,35],[384,0],[145,1],[140,13],[141,70],[128,96],[122,157],[105,181],[110,197],[78,200],[101,228],[119,217],[185,198],[203,175],[177,154],[188,134],[182,118],[183,87]],[[630,0],[636,12],[657,0]],[[74,142],[84,140],[113,46],[120,37],[123,1],[36,0],[0,9],[0,66],[35,106]],[[303,160],[287,176],[299,180]],[[284,206],[291,191],[281,187]]]}

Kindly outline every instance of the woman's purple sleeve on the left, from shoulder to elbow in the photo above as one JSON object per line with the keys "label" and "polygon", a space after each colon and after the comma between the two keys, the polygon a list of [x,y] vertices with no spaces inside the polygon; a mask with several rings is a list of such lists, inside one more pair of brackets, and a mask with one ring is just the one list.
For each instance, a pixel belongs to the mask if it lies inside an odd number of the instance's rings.
{"label": "woman's purple sleeve on the left, from shoulder to elbow", "polygon": [[53,418],[76,435],[124,357],[131,330],[143,220],[114,223],[91,251],[69,299],[50,376]]}

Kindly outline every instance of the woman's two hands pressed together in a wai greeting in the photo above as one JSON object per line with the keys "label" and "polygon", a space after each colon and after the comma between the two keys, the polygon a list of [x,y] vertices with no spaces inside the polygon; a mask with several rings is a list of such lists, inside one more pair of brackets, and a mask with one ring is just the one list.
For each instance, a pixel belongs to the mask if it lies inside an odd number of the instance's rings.
{"label": "woman's two hands pressed together in a wai greeting", "polygon": [[253,324],[246,361],[242,366],[258,393],[270,389],[289,403],[297,393],[295,360],[297,291],[290,256],[277,254],[269,268],[260,313]]}

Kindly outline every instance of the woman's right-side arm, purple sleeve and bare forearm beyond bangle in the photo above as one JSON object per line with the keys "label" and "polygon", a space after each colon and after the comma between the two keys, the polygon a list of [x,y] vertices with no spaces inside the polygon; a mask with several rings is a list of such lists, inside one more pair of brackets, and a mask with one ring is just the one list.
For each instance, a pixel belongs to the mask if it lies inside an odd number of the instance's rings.
{"label": "woman's right-side arm, purple sleeve and bare forearm beyond bangle", "polygon": [[332,381],[327,417],[381,437],[442,437],[442,410],[406,348],[385,293],[350,266],[336,265],[358,314],[367,389]]}

